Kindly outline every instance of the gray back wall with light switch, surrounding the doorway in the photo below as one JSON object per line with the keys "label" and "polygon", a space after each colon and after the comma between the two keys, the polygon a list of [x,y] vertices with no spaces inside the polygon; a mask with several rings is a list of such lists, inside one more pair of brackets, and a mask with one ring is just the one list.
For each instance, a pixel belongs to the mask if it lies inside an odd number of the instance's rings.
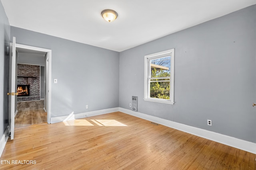
{"label": "gray back wall with light switch, surrounding the doorway", "polygon": [[118,107],[118,52],[17,27],[13,36],[16,43],[52,49],[51,117]]}

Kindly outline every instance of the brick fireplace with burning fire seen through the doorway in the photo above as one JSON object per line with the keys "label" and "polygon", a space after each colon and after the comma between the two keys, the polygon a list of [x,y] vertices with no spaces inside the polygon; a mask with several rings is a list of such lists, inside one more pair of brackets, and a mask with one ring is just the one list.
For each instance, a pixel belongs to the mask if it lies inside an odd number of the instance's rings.
{"label": "brick fireplace with burning fire seen through the doorway", "polygon": [[[19,88],[26,87],[29,88],[29,94],[23,92],[24,89]],[[17,65],[17,92],[20,91],[25,95],[18,95],[17,101],[33,101],[40,100],[40,66],[28,65],[28,64],[18,64]]]}

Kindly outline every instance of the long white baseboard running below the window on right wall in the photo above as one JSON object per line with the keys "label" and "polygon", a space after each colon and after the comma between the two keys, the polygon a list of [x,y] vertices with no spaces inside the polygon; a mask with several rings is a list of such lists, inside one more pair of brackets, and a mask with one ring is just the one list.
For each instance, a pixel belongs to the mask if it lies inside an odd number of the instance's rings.
{"label": "long white baseboard running below the window on right wall", "polygon": [[169,121],[169,120],[162,119],[162,118],[159,118],[159,117],[155,117],[155,116],[147,115],[147,114],[144,114],[144,113],[132,111],[132,110],[129,110],[129,109],[124,109],[122,107],[119,107],[119,111],[121,111],[123,113],[126,113],[126,114],[129,114],[129,115],[133,115],[133,116],[142,118],[142,119],[146,119],[148,121],[153,121],[153,122],[159,123],[161,125],[171,127],[173,129],[184,131],[184,132],[190,133],[192,135],[203,137],[203,138],[209,139],[211,141],[222,143],[222,144],[228,145],[230,147],[234,147],[234,148],[237,148],[237,149],[245,150],[247,152],[251,152],[253,154],[256,154],[256,143],[244,141],[244,140],[241,140],[241,139],[237,139],[237,138],[230,137],[230,136],[227,136],[227,135],[222,135],[220,133],[216,133],[216,132],[212,132],[212,131],[207,131],[207,130],[200,129],[200,128],[197,128],[197,127],[184,125],[184,124],[177,123],[177,122],[174,122],[174,121]]}

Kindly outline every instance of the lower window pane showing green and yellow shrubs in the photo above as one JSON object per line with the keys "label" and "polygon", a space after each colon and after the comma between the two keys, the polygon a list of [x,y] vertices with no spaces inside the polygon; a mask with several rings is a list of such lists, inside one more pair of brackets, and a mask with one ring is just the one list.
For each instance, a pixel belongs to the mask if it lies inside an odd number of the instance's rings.
{"label": "lower window pane showing green and yellow shrubs", "polygon": [[150,98],[170,100],[170,80],[166,82],[150,82]]}

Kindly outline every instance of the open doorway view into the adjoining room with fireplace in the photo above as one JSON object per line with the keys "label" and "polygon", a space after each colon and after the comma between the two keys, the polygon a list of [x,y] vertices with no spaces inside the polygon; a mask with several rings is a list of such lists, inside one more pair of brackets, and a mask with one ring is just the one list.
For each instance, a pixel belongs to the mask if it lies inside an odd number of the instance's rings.
{"label": "open doorway view into the adjoining room with fireplace", "polygon": [[44,110],[46,52],[16,47],[17,114],[15,128],[47,123]]}

